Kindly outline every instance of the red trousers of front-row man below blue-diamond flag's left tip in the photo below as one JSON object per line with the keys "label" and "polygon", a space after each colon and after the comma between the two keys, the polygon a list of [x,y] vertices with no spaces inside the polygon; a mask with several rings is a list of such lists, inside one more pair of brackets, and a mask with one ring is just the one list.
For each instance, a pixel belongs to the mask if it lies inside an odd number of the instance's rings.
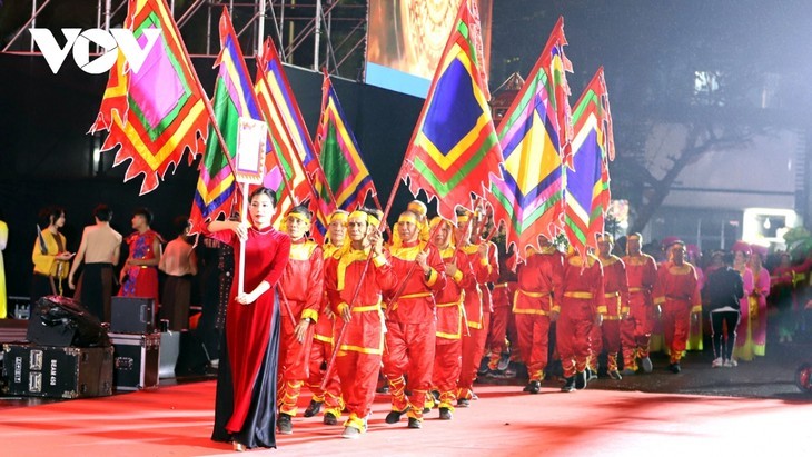
{"label": "red trousers of front-row man below blue-diamond flag's left tip", "polygon": [[[432,388],[432,368],[436,340],[436,325],[430,322],[402,324],[386,321],[384,376],[389,381],[392,409],[423,419],[426,393]],[[408,384],[404,379],[408,378]],[[412,391],[407,399],[405,390]]]}

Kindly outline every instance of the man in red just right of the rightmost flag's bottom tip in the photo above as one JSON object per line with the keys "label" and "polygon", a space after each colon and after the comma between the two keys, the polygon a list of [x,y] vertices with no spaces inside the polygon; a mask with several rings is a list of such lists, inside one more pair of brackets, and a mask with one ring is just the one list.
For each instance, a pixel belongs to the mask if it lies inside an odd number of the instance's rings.
{"label": "man in red just right of the rightmost flag's bottom tip", "polygon": [[606,374],[618,380],[617,352],[621,350],[621,319],[628,315],[628,279],[626,266],[612,255],[612,235],[597,236],[598,260],[603,267],[603,292],[606,314],[600,326],[593,326],[590,345],[590,370],[597,374],[597,356],[606,349]]}

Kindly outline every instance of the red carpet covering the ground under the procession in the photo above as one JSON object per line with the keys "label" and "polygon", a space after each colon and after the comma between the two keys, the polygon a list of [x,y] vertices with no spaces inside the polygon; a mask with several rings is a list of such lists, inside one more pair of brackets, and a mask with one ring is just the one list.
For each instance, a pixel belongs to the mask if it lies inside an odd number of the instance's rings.
{"label": "red carpet covering the ground under the procession", "polygon": [[[442,456],[701,456],[812,455],[812,404],[784,400],[652,395],[545,388],[531,396],[516,386],[481,386],[471,408],[422,430],[384,423],[388,396],[378,395],[369,433],[339,437],[340,426],[294,419],[294,435],[277,450],[252,455]],[[209,440],[215,383],[161,387],[105,398],[3,408],[0,455],[211,456],[230,447]],[[306,405],[309,398],[303,398]],[[303,409],[304,410],[304,409]]]}

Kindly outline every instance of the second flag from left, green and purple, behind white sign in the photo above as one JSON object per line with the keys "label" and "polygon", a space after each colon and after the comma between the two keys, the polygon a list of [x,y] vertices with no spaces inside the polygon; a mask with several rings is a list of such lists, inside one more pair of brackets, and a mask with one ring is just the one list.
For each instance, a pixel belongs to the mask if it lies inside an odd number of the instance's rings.
{"label": "second flag from left, green and purple, behind white sign", "polygon": [[215,121],[222,132],[228,150],[222,150],[220,143],[212,140],[214,132],[210,132],[211,140],[206,145],[206,155],[200,163],[200,177],[191,208],[190,220],[195,231],[220,213],[230,216],[237,192],[230,162],[237,152],[239,118],[263,120],[263,113],[254,96],[251,78],[226,8],[222,9],[219,30],[220,53],[215,61],[218,74],[211,105],[215,110]]}

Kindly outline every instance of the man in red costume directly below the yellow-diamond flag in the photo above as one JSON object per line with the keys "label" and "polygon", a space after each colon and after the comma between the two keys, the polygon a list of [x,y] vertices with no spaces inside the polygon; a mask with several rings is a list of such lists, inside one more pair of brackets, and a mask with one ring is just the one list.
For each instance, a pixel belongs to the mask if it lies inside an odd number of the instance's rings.
{"label": "man in red costume directly below the yellow-diamond flag", "polygon": [[513,301],[516,334],[522,358],[527,365],[529,383],[524,391],[542,391],[544,368],[547,367],[551,316],[557,309],[554,292],[561,287],[563,256],[549,240],[538,236],[541,250],[527,248],[526,258],[516,268],[518,285]]}

